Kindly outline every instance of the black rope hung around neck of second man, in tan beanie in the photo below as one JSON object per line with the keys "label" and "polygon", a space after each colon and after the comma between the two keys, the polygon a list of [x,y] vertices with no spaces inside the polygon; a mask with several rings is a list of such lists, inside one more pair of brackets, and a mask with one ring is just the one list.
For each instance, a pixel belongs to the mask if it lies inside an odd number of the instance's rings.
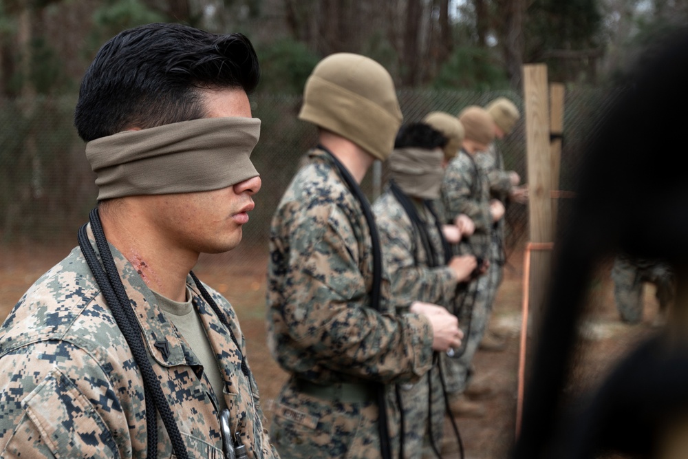
{"label": "black rope hung around neck of second man, in tan beanie", "polygon": [[[361,191],[361,186],[358,186],[358,182],[354,180],[351,173],[341,162],[339,162],[332,151],[323,147],[323,145],[318,145],[318,148],[325,151],[330,156],[330,160],[332,160],[334,163],[334,166],[336,167],[344,183],[349,188],[349,191],[351,191],[356,200],[358,200],[358,203],[361,204],[361,210],[365,216],[365,222],[368,224],[368,232],[370,233],[370,242],[372,245],[373,285],[370,290],[370,302],[373,309],[380,311],[382,308],[380,305],[380,286],[382,285],[383,278],[382,250],[380,250],[380,236],[378,235],[378,228],[375,224],[375,219],[373,217],[373,212],[370,209],[370,204],[363,194],[363,191]],[[379,412],[378,430],[380,434],[380,453],[383,459],[391,459],[391,444],[389,440],[389,427],[387,425],[387,403],[385,401],[385,385],[382,383],[376,383],[376,385]]]}

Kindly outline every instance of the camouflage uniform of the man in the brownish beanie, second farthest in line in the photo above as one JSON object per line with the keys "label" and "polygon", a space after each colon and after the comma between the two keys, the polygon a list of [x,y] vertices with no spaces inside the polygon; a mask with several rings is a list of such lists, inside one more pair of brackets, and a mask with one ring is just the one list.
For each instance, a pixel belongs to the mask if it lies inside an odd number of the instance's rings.
{"label": "camouflage uniform of the man in the brownish beanie, second farthest in line", "polygon": [[[461,213],[471,217],[475,233],[453,244],[454,255],[475,255],[490,259],[492,217],[490,214],[489,184],[477,168],[473,157],[461,150],[449,162],[442,180],[442,204],[445,223],[451,223]],[[473,355],[490,317],[490,277],[482,275],[469,282],[457,293],[452,305],[453,314],[464,328],[464,343],[460,356],[447,359],[447,392],[458,394],[466,388]]]}

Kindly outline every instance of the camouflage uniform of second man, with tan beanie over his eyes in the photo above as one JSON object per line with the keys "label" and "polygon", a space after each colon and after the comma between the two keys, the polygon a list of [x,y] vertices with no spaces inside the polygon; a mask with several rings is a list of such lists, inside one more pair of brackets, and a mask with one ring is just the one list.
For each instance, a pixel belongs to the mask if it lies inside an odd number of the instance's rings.
{"label": "camouflage uniform of second man, with tan beanie over his eyes", "polygon": [[[389,310],[387,279],[382,302],[389,312],[370,307],[371,247],[361,205],[332,158],[311,151],[270,231],[268,343],[291,374],[270,427],[283,458],[379,458],[371,382],[415,382],[431,367],[431,325]],[[391,392],[394,453],[398,414]]]}

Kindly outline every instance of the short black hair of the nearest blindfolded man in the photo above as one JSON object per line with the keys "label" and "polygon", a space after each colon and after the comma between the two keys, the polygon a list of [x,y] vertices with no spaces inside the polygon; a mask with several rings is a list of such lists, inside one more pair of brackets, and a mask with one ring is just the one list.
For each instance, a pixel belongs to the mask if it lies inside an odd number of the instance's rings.
{"label": "short black hair of the nearest blindfolded man", "polygon": [[129,127],[141,129],[204,116],[197,89],[255,89],[260,76],[242,34],[211,34],[177,23],[120,32],[88,67],[74,125],[88,142]]}

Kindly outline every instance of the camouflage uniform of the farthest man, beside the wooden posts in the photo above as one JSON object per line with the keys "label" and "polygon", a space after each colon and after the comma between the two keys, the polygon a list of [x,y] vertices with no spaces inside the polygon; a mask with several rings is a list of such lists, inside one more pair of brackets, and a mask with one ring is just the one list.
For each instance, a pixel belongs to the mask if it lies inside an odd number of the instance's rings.
{"label": "camouflage uniform of the farthest man, beside the wooden posts", "polygon": [[[490,198],[497,199],[506,206],[509,193],[513,190],[513,184],[511,184],[509,173],[504,171],[504,158],[502,158],[502,152],[497,149],[495,142],[491,143],[486,151],[481,151],[475,155],[475,164],[487,179],[490,186]],[[490,305],[495,303],[499,284],[502,284],[505,262],[504,218],[502,217],[492,226],[490,267],[485,273],[486,276],[490,277],[490,292],[487,300]]]}

